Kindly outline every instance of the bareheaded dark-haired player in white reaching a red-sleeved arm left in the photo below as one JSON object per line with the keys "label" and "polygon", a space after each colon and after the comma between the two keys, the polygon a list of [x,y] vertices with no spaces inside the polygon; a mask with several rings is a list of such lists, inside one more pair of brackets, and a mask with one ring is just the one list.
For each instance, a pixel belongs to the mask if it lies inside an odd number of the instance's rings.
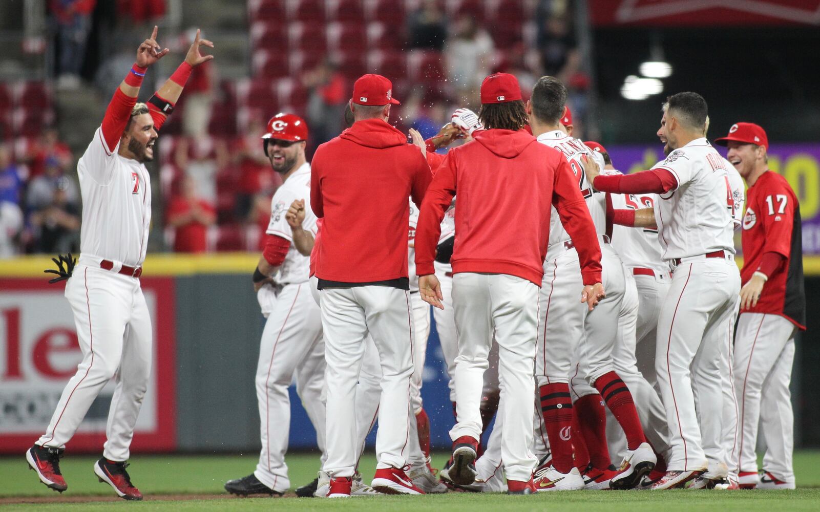
{"label": "bareheaded dark-haired player in white reaching a red-sleeved arm left", "polygon": [[614,218],[635,227],[657,225],[663,259],[674,269],[658,318],[655,356],[672,458],[653,489],[681,487],[724,464],[725,457],[721,347],[740,274],[732,242],[734,197],[725,161],[703,136],[706,116],[699,94],[675,94],[667,99],[661,120],[660,131],[672,149],[666,160],[629,175],[587,170],[596,190],[661,198],[653,210],[616,211]]}

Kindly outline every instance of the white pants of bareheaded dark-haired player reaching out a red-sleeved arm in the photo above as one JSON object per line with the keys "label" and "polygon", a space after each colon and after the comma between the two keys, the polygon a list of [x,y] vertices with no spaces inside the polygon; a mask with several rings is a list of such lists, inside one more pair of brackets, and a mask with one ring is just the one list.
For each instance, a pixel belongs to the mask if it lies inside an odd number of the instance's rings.
{"label": "white pants of bareheaded dark-haired player reaching out a red-sleeved arm", "polygon": [[703,471],[724,460],[720,352],[739,292],[734,256],[685,258],[675,269],[655,352],[672,435],[670,471]]}

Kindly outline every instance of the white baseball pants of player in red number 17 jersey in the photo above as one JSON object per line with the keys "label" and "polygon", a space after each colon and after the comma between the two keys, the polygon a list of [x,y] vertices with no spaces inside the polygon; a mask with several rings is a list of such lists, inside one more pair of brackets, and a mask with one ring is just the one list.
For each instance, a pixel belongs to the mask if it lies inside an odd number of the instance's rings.
{"label": "white baseball pants of player in red number 17 jersey", "polygon": [[797,328],[780,315],[741,313],[735,337],[735,391],[740,408],[738,452],[740,471],[756,471],[758,420],[766,453],[763,470],[787,483],[792,468],[794,414],[791,410],[791,367]]}

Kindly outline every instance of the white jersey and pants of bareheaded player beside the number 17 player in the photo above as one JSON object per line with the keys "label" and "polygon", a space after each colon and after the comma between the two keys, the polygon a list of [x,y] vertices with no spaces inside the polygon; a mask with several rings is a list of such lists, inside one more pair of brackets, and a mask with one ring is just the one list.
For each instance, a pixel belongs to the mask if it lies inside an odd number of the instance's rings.
{"label": "white jersey and pants of bareheaded player beside the number 17 player", "polygon": [[720,353],[740,291],[726,165],[705,138],[697,138],[654,167],[677,182],[654,209],[663,259],[674,268],[655,353],[672,434],[670,471],[712,470],[725,459]]}

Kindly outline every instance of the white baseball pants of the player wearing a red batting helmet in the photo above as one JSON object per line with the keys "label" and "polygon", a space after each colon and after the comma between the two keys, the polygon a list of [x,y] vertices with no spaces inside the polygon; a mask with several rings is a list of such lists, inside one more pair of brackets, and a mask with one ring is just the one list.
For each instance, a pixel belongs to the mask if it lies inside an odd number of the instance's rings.
{"label": "white baseball pants of the player wearing a red batting helmet", "polygon": [[290,488],[285,452],[290,428],[288,387],[295,376],[296,392],[316,428],[317,446],[325,446],[325,344],[321,311],[308,283],[285,284],[262,330],[256,388],[262,451],[253,472],[277,492]]}

